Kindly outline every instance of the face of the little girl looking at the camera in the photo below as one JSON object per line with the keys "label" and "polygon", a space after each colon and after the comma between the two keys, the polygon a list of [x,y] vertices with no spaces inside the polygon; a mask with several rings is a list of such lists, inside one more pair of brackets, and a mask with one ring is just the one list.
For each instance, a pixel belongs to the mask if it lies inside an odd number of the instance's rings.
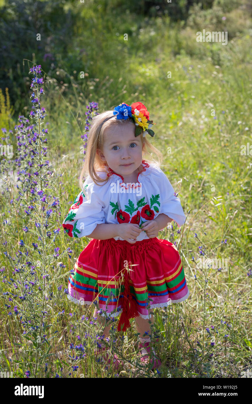
{"label": "face of the little girl looking at the camera", "polygon": [[124,177],[140,166],[143,145],[141,135],[135,137],[133,125],[115,125],[113,129],[105,130],[103,151],[97,150],[97,153],[111,170]]}

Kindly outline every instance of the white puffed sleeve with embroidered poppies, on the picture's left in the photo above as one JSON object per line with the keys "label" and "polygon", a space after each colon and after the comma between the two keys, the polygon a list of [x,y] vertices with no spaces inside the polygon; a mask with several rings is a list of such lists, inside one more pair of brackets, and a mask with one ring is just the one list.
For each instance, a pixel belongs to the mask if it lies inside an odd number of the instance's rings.
{"label": "white puffed sleeve with embroidered poppies, on the picture's left", "polygon": [[62,223],[70,237],[88,236],[97,224],[105,223],[104,187],[91,181],[90,177],[83,184],[81,191],[71,205],[67,217]]}

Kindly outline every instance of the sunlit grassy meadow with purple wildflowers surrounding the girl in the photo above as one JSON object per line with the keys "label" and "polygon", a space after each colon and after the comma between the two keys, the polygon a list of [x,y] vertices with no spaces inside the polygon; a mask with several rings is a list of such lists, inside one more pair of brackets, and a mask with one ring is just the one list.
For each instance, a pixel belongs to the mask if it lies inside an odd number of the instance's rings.
{"label": "sunlit grassy meadow with purple wildflowers surrounding the girl", "polygon": [[[0,3],[0,371],[251,377],[252,7],[127,3]],[[227,44],[197,42],[203,30],[227,32]],[[80,192],[92,116],[136,101],[156,122],[148,140],[187,216],[159,238],[178,248],[190,296],[153,311],[161,368],[139,361],[134,319],[126,332],[113,324],[105,342],[124,361],[117,371],[94,356],[97,302],[67,299],[90,238],[70,239],[62,223]]]}

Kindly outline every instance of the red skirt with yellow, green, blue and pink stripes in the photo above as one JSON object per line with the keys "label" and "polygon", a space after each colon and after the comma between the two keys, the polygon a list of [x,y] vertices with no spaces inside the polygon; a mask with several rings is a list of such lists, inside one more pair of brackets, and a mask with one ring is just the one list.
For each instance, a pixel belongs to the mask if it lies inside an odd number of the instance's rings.
{"label": "red skirt with yellow, green, blue and pink stripes", "polygon": [[68,290],[74,303],[98,300],[107,316],[122,314],[118,331],[130,327],[130,318],[150,318],[151,309],[189,297],[178,250],[157,237],[135,244],[91,239],[69,276]]}

